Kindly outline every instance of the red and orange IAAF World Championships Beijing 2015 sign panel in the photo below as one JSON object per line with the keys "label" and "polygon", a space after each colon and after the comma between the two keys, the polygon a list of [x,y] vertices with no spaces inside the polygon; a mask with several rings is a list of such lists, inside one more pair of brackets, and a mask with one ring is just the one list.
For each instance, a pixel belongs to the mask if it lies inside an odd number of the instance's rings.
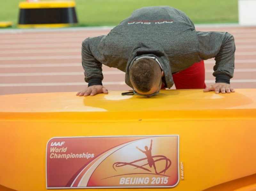
{"label": "red and orange IAAF World Championships Beijing 2015 sign panel", "polygon": [[[53,151],[63,142],[62,150]],[[175,187],[179,182],[178,135],[53,138],[46,157],[47,188]]]}

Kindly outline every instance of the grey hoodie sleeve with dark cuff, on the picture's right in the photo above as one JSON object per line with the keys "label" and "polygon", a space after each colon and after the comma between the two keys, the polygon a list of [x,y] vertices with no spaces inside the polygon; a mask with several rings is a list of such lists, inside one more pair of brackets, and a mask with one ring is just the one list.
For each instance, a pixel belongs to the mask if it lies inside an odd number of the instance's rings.
{"label": "grey hoodie sleeve with dark cuff, on the picture's right", "polygon": [[213,76],[217,82],[229,84],[234,75],[235,41],[234,37],[224,32],[196,31],[199,45],[199,60],[215,58]]}

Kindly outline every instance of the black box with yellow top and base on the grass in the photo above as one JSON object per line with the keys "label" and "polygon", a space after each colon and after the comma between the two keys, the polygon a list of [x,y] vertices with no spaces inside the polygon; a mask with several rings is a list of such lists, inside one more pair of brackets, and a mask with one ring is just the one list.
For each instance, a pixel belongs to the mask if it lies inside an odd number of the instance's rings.
{"label": "black box with yellow top and base on the grass", "polygon": [[78,23],[75,1],[38,1],[19,3],[19,28],[58,28]]}

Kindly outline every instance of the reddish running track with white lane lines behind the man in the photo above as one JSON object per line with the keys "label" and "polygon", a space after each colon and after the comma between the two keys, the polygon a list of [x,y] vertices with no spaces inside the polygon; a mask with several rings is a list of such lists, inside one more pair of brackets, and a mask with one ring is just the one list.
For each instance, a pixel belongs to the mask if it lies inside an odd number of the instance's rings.
{"label": "reddish running track with white lane lines behind the man", "polygon": [[[227,31],[236,41],[234,88],[256,88],[256,26],[196,26],[201,31]],[[0,30],[0,95],[78,92],[84,82],[81,43],[110,28]],[[205,61],[206,84],[214,83],[214,59]],[[124,72],[103,66],[108,90],[126,91]],[[174,88],[174,87],[173,87]],[[172,89],[173,89],[172,88]]]}

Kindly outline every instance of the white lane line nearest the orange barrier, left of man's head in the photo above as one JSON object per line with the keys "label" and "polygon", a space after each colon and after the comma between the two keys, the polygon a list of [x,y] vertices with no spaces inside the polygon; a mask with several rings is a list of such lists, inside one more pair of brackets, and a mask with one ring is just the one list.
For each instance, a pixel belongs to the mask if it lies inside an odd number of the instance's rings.
{"label": "white lane line nearest the orange barrier, left of man's head", "polygon": [[[124,85],[124,81],[103,82],[104,85]],[[17,86],[67,86],[67,85],[87,85],[85,82],[60,82],[60,83],[20,83],[20,84],[0,84],[0,87],[17,87]]]}

